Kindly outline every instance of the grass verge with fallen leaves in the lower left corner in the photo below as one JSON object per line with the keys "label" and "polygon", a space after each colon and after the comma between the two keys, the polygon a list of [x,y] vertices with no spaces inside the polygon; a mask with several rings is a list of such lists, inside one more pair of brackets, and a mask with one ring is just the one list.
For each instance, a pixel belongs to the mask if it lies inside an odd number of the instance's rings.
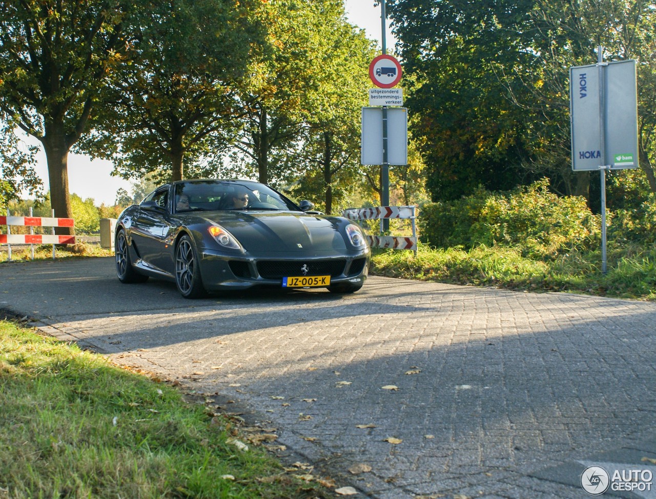
{"label": "grass verge with fallen leaves in the lower left corner", "polygon": [[0,321],[1,499],[325,496],[214,410],[211,397],[185,401],[167,383]]}

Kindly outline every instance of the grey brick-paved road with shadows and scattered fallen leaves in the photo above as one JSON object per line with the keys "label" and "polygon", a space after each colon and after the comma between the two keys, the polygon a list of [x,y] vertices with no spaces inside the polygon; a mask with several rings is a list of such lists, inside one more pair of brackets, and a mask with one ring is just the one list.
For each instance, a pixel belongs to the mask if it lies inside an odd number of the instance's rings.
{"label": "grey brick-paved road with shadows and scattered fallen leaves", "polygon": [[378,277],[187,301],[96,259],[0,265],[3,307],[236,400],[359,497],[584,498],[590,462],[656,458],[654,303]]}

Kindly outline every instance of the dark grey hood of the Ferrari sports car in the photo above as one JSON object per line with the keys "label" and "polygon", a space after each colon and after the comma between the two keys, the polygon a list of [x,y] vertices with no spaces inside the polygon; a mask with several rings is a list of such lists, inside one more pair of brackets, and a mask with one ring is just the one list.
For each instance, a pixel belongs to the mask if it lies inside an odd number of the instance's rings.
{"label": "dark grey hood of the Ferrari sports car", "polygon": [[346,250],[338,219],[287,211],[219,211],[203,218],[228,230],[246,251]]}

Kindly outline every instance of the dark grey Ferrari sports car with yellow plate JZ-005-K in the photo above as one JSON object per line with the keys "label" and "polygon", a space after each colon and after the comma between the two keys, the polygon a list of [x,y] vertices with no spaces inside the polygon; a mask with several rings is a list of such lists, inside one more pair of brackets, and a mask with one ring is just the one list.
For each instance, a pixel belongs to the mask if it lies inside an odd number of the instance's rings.
{"label": "dark grey Ferrari sports car with yellow plate JZ-005-K", "polygon": [[165,184],[119,215],[117,276],[172,280],[186,298],[252,286],[358,291],[370,257],[361,228],[312,209],[251,181]]}

